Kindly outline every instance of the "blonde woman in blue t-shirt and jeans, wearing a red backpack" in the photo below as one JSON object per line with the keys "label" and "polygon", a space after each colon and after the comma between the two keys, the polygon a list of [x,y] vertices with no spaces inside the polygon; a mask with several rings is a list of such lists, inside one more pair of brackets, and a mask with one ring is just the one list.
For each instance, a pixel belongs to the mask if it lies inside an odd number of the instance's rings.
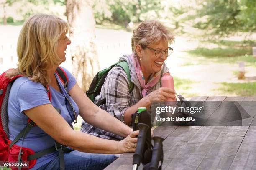
{"label": "blonde woman in blue t-shirt and jeans, wearing a red backpack", "polygon": [[[9,93],[10,140],[32,120],[36,126],[32,125],[26,138],[24,135],[15,145],[36,153],[56,148],[41,154],[31,169],[103,169],[117,158],[112,154],[135,151],[137,138],[134,137],[138,131],[132,132],[123,122],[94,105],[73,75],[59,67],[66,60],[65,50],[71,43],[67,31],[68,24],[57,16],[36,14],[28,18],[18,38],[18,68],[6,73],[8,77],[22,75]],[[67,76],[67,85],[56,72],[57,68]],[[71,123],[77,120],[77,115],[125,139],[117,142],[74,131]],[[69,147],[68,153],[64,153],[64,145]],[[70,152],[70,148],[74,150]]]}

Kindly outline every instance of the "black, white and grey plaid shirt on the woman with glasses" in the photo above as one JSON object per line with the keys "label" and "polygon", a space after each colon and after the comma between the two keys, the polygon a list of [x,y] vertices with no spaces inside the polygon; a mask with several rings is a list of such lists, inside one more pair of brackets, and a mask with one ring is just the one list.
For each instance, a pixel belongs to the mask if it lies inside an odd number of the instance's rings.
{"label": "black, white and grey plaid shirt on the woman with glasses", "polygon": [[[120,67],[114,67],[108,72],[105,79],[104,85],[102,86],[100,95],[95,97],[95,103],[106,98],[106,104],[100,105],[100,108],[106,110],[110,115],[115,116],[119,120],[123,121],[123,115],[125,110],[132,105],[135,105],[139,100],[143,98],[141,92],[141,85],[138,81],[135,68],[133,67],[131,61],[131,55],[124,55],[119,61],[127,61],[130,68],[131,82],[134,84],[133,91],[129,94],[129,83],[125,71]],[[162,66],[161,74],[164,72],[169,72],[168,68],[164,64]],[[161,87],[161,81],[156,83],[153,87],[148,90],[148,93]],[[151,122],[153,124],[154,118],[156,116],[156,107],[161,107],[161,104],[151,105]],[[118,127],[117,127],[118,128]],[[82,122],[81,131],[90,135],[94,135],[100,138],[110,139],[110,140],[122,140],[123,137],[109,133],[107,131],[96,128],[87,122]]]}

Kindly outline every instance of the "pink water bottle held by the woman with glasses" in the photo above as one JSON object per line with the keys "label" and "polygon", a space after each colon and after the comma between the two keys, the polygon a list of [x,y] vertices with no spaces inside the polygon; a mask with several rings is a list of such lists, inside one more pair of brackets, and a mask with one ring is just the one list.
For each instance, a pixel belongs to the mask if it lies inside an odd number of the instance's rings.
{"label": "pink water bottle held by the woman with glasses", "polygon": [[[169,72],[164,73],[164,75],[161,78],[161,84],[162,87],[168,87],[174,90],[174,81],[173,77],[170,75]],[[175,101],[175,103],[173,102]],[[176,104],[176,100],[172,98],[167,98],[167,100],[164,102],[165,105],[174,105]]]}

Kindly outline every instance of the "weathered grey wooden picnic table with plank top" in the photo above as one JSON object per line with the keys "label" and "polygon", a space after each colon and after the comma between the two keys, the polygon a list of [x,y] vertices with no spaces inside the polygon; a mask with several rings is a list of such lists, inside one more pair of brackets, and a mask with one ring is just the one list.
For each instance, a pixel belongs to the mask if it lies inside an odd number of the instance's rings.
{"label": "weathered grey wooden picnic table with plank top", "polygon": [[[243,126],[158,126],[164,138],[163,170],[256,170],[256,97],[192,97],[216,101],[208,117],[220,114],[223,101],[237,101],[250,115]],[[251,102],[247,102],[251,101]],[[133,153],[124,153],[105,170],[132,170]],[[138,167],[142,170],[143,165]]]}

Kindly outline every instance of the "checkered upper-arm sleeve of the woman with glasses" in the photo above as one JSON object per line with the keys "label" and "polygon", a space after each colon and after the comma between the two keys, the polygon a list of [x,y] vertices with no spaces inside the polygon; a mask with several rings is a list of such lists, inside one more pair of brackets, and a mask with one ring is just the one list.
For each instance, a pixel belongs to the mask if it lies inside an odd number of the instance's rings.
{"label": "checkered upper-arm sleeve of the woman with glasses", "polygon": [[125,110],[129,107],[129,85],[125,71],[114,67],[105,80],[107,110],[119,120],[123,120]]}

